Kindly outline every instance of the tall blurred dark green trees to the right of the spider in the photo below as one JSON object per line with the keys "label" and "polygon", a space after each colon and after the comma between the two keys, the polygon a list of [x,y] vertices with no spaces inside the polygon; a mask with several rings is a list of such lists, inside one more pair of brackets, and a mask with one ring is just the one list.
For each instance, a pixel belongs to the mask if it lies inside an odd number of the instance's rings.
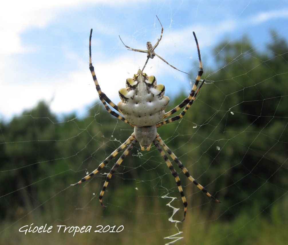
{"label": "tall blurred dark green trees to the right of the spider", "polygon": [[201,124],[193,141],[217,190],[224,190],[219,199],[231,207],[222,218],[266,209],[287,184],[287,43],[274,37],[259,53],[244,40],[216,48],[221,69],[206,79],[191,119],[181,125]]}

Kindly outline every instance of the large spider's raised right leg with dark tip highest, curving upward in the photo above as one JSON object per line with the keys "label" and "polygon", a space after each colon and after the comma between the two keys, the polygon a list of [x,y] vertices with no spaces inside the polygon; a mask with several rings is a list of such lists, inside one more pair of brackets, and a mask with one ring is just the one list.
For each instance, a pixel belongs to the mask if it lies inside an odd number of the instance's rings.
{"label": "large spider's raised right leg with dark tip highest, curving upward", "polygon": [[[199,70],[198,70],[197,77],[196,77],[196,79],[195,79],[195,83],[194,83],[194,85],[193,85],[193,87],[192,87],[192,89],[191,89],[191,91],[190,91],[189,96],[188,96],[186,99],[184,99],[184,100],[181,102],[181,104],[179,104],[178,106],[176,106],[176,107],[173,108],[172,110],[166,112],[166,113],[164,114],[163,118],[165,118],[165,117],[167,117],[167,116],[170,116],[171,114],[177,112],[178,110],[180,110],[181,108],[183,108],[185,105],[188,104],[188,102],[193,98],[194,93],[195,93],[195,91],[196,91],[196,88],[197,88],[197,86],[198,86],[198,83],[199,83],[199,81],[200,81],[200,79],[201,79],[201,76],[202,76],[202,74],[203,74],[203,66],[202,66],[202,61],[201,61],[200,49],[199,49],[198,40],[197,40],[197,38],[196,38],[195,32],[193,32],[193,35],[194,35],[195,42],[196,42],[196,46],[197,46],[198,60],[199,60]],[[160,57],[159,57],[159,58],[160,58]],[[169,65],[169,64],[168,64],[168,65]],[[175,69],[176,69],[176,68],[175,68]],[[176,70],[178,70],[178,69],[176,69]]]}

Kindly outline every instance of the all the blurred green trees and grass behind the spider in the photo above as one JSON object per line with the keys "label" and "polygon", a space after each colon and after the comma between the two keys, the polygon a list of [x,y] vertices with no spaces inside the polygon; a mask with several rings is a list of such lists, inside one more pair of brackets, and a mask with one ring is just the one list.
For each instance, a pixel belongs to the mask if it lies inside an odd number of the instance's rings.
{"label": "all the blurred green trees and grass behind the spider", "polygon": [[[193,177],[222,204],[206,198],[180,174],[188,202],[176,244],[285,244],[288,240],[287,67],[285,40],[268,49],[249,40],[215,49],[218,69],[205,76],[198,99],[183,120],[160,127],[162,139]],[[240,54],[240,55],[239,55]],[[208,73],[208,72],[207,72]],[[170,102],[179,104],[185,94]],[[197,127],[194,127],[197,126]],[[69,187],[94,170],[132,133],[101,103],[85,118],[62,119],[39,102],[0,123],[1,244],[164,244],[177,229],[168,222],[172,204],[183,205],[174,178],[155,147],[133,150],[98,194],[112,161],[92,181]],[[117,158],[116,158],[117,159]],[[176,167],[175,167],[176,169]],[[179,169],[177,169],[179,172]],[[18,232],[23,225],[124,225],[120,233]],[[277,233],[277,236],[275,235]],[[111,235],[112,234],[112,235]]]}

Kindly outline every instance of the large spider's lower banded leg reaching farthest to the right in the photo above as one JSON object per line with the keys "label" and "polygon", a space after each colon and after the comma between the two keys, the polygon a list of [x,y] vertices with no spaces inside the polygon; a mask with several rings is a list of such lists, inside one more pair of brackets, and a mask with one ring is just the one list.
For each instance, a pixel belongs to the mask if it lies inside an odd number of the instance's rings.
{"label": "large spider's lower banded leg reaching farthest to the right", "polygon": [[212,198],[213,200],[215,200],[216,202],[220,202],[217,198],[215,198],[214,196],[212,196],[209,192],[207,192],[207,190],[200,185],[196,179],[194,179],[188,172],[188,170],[183,166],[183,164],[179,161],[179,159],[177,158],[177,156],[175,156],[175,154],[168,148],[168,146],[166,146],[166,144],[164,143],[164,141],[161,139],[161,137],[159,136],[159,134],[156,135],[156,139],[157,141],[159,141],[160,145],[164,148],[164,150],[170,155],[170,157],[173,159],[174,162],[176,162],[176,164],[178,165],[178,167],[183,171],[183,173],[186,175],[186,177],[188,179],[190,179],[190,181],[192,181],[202,192],[204,192],[207,196],[209,196],[210,198]]}

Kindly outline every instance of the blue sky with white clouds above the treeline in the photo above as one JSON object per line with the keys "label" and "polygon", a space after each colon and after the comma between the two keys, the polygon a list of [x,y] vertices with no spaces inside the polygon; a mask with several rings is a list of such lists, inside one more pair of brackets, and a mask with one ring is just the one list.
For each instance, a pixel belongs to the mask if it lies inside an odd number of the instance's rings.
{"label": "blue sky with white clouds above the treeline", "polygon": [[[204,77],[215,66],[213,49],[221,41],[249,37],[256,49],[272,41],[270,31],[288,40],[288,2],[160,1],[160,0],[50,0],[6,1],[0,10],[0,120],[9,121],[41,100],[53,113],[84,115],[96,102],[89,71],[92,62],[103,92],[115,104],[118,90],[142,68],[145,53],[127,51],[119,39],[135,49],[146,49],[163,38],[155,52],[195,78],[199,66],[192,32],[197,35]],[[164,84],[170,98],[189,93],[189,76],[157,57],[144,70]]]}

